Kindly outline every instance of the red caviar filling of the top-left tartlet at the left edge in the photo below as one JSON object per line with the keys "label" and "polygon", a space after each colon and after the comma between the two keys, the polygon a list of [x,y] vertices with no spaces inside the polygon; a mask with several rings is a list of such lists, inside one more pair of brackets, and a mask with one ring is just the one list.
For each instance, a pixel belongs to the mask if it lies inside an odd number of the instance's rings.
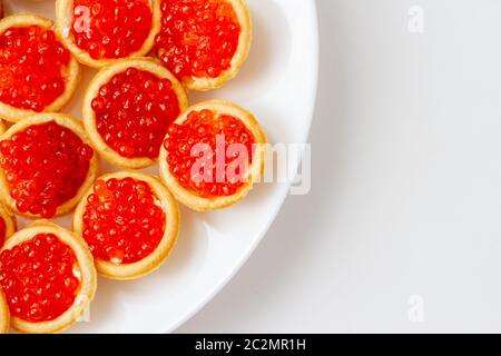
{"label": "red caviar filling of the top-left tartlet at the left edge", "polygon": [[65,92],[63,70],[70,58],[52,30],[8,29],[0,34],[0,101],[43,111]]}

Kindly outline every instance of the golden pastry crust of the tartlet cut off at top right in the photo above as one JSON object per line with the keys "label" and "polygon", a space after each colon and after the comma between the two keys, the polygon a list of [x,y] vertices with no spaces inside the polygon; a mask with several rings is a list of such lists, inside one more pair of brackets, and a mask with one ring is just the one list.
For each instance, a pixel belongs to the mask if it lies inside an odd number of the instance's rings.
{"label": "golden pastry crust of the tartlet cut off at top right", "polygon": [[[240,24],[240,36],[238,37],[238,47],[235,55],[232,58],[232,66],[223,71],[217,78],[199,78],[199,77],[185,77],[181,79],[183,83],[191,90],[206,91],[223,87],[226,82],[234,79],[244,66],[245,60],[248,57],[253,42],[253,23],[250,19],[250,12],[244,0],[225,0],[230,3],[235,10],[235,14]],[[158,56],[165,53],[164,49],[158,50]]]}

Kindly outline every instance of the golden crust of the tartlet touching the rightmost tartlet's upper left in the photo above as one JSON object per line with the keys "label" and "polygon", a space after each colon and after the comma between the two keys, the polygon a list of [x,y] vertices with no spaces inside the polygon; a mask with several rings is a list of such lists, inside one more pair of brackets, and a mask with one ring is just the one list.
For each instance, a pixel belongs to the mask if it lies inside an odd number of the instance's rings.
{"label": "golden crust of the tartlet touching the rightmost tartlet's upper left", "polygon": [[169,79],[173,83],[173,90],[177,95],[180,111],[184,112],[189,103],[188,96],[183,85],[168,71],[161,63],[153,58],[131,58],[122,59],[110,66],[102,68],[90,82],[84,97],[84,127],[89,136],[92,147],[109,162],[122,168],[145,168],[151,166],[156,160],[148,157],[126,158],[109,147],[96,127],[96,112],[92,110],[92,99],[98,96],[99,89],[106,85],[114,76],[126,71],[128,68],[149,71],[150,73]]}

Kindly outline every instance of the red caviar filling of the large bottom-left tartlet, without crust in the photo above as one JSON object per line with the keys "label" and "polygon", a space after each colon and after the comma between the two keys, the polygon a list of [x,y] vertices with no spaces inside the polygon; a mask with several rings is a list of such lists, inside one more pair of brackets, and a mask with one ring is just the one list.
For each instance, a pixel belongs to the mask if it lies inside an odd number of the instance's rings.
{"label": "red caviar filling of the large bottom-left tartlet, without crust", "polygon": [[52,234],[0,254],[0,287],[10,313],[30,323],[61,316],[75,301],[81,285],[77,257]]}

